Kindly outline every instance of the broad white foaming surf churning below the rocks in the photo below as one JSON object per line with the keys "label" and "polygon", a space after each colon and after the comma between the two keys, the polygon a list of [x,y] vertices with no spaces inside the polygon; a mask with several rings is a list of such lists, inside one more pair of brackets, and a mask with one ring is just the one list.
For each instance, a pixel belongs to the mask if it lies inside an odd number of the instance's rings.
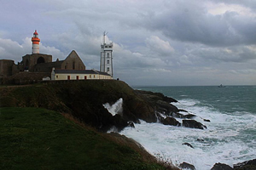
{"label": "broad white foaming surf churning below the rocks", "polygon": [[[183,161],[195,165],[197,170],[211,169],[222,162],[232,167],[241,161],[255,159],[256,137],[247,139],[247,129],[255,130],[256,116],[249,113],[221,113],[211,106],[201,105],[200,101],[183,99],[178,108],[195,114],[196,121],[207,129],[165,126],[160,123],[141,121],[135,128],[126,127],[121,133],[143,144],[151,154],[159,154],[171,159],[177,165]],[[209,119],[211,122],[204,122]],[[181,122],[181,119],[177,119]],[[198,141],[197,139],[203,139]],[[192,144],[192,149],[184,142]]]}

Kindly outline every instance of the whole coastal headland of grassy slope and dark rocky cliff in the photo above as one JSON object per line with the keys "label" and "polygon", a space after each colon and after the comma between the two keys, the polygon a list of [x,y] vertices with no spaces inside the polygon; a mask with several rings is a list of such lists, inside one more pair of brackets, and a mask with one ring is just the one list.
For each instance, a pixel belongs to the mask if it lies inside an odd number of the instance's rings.
{"label": "whole coastal headland of grassy slope and dark rocky cliff", "polygon": [[[207,128],[172,105],[176,99],[116,80],[2,86],[0,94],[1,169],[178,169],[136,141],[106,132],[140,120]],[[104,107],[117,101],[122,103],[115,114]]]}

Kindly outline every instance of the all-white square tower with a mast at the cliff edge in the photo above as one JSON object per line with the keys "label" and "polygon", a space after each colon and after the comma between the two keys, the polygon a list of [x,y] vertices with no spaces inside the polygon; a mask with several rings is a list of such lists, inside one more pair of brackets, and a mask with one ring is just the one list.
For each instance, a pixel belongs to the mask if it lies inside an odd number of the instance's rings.
{"label": "all-white square tower with a mast at the cliff edge", "polygon": [[101,51],[101,64],[100,71],[107,72],[111,77],[113,77],[113,42],[106,42],[106,35],[108,32],[104,31],[103,41],[102,41],[102,51]]}

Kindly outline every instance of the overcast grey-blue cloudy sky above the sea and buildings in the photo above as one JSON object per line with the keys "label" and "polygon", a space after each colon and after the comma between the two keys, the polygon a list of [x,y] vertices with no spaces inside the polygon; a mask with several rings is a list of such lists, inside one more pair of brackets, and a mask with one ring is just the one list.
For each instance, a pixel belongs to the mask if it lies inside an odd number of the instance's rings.
{"label": "overcast grey-blue cloudy sky above the sea and buildings", "polygon": [[0,0],[0,59],[75,50],[99,70],[103,31],[113,77],[130,85],[256,85],[254,0]]}

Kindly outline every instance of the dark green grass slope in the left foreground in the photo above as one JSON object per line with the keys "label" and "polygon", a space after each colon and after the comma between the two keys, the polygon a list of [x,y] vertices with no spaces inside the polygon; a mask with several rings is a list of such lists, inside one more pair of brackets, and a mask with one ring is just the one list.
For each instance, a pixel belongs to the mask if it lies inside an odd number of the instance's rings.
{"label": "dark green grass slope in the left foreground", "polygon": [[0,111],[0,169],[166,169],[58,112],[30,107]]}

